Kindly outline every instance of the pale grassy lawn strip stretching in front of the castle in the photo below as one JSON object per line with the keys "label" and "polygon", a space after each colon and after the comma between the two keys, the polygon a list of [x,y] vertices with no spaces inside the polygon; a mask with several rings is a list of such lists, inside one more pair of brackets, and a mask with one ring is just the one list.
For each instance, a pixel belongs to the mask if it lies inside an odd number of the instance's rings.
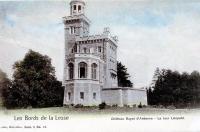
{"label": "pale grassy lawn strip stretching in front of the castle", "polygon": [[144,114],[144,115],[157,115],[157,114],[193,114],[200,113],[200,109],[159,109],[159,108],[129,108],[129,107],[110,107],[99,110],[98,107],[86,108],[66,108],[66,107],[51,107],[51,108],[29,108],[29,109],[14,109],[7,110],[1,107],[1,114],[68,114],[68,115],[119,115],[119,114]]}

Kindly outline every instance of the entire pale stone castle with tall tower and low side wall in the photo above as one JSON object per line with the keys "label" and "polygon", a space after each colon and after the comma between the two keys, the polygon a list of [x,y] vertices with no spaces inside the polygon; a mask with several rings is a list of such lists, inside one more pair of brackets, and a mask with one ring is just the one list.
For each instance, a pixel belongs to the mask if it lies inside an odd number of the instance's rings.
{"label": "entire pale stone castle with tall tower and low side wall", "polygon": [[[109,28],[100,35],[89,35],[90,20],[85,2],[72,0],[70,16],[64,17],[65,69],[64,105],[147,104],[146,90],[120,88],[117,82],[117,43]],[[137,96],[139,95],[139,96]]]}

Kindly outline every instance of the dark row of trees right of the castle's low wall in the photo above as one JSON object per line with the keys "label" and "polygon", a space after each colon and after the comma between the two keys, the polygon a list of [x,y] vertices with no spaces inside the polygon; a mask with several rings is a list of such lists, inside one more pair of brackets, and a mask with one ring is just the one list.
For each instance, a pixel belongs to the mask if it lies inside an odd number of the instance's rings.
{"label": "dark row of trees right of the castle's low wall", "polygon": [[157,68],[147,98],[149,105],[197,107],[200,105],[200,73]]}

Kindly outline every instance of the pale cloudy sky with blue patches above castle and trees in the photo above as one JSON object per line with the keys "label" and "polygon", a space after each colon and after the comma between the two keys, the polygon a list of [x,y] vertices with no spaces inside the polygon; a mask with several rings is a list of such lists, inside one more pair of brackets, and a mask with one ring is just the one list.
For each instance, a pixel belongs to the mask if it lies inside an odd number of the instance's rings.
{"label": "pale cloudy sky with blue patches above castle and trees", "polygon": [[[63,79],[64,25],[69,2],[0,2],[0,69],[12,78],[12,65],[32,49],[52,58]],[[109,27],[117,35],[118,60],[135,87],[151,84],[156,67],[200,71],[200,1],[85,0],[90,34]]]}

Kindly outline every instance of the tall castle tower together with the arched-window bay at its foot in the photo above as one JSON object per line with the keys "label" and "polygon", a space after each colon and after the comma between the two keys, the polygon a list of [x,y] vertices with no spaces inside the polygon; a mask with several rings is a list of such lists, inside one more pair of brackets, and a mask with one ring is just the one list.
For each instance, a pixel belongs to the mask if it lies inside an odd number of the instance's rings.
{"label": "tall castle tower together with the arched-window bay at its foot", "polygon": [[[99,55],[88,44],[90,20],[85,16],[85,2],[72,0],[70,16],[64,17],[65,69],[64,104],[97,105],[101,103]],[[86,40],[85,40],[86,39]]]}

